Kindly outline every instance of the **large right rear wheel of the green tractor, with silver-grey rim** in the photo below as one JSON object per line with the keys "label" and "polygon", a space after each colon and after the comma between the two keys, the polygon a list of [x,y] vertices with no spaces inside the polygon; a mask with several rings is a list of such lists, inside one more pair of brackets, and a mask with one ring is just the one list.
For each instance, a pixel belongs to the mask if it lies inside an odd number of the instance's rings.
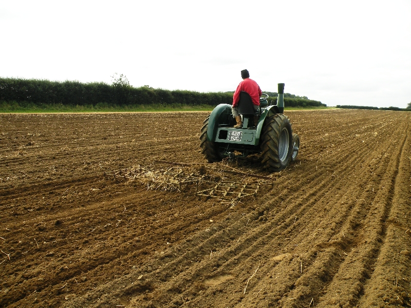
{"label": "large right rear wheel of the green tractor, with silver-grey rim", "polygon": [[288,166],[293,152],[290,119],[282,113],[271,115],[261,133],[261,162],[271,172],[281,171]]}

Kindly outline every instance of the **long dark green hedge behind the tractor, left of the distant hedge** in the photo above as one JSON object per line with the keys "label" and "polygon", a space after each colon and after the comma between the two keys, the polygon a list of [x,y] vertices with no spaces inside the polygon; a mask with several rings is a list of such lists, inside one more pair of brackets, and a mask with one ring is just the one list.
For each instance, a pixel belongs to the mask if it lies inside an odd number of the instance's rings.
{"label": "long dark green hedge behind the tractor, left of the distant hedge", "polygon": [[[270,92],[271,93],[271,92]],[[272,92],[274,93],[274,92]],[[292,95],[292,94],[290,94]],[[196,92],[188,90],[154,89],[150,86],[135,88],[129,85],[125,76],[115,79],[109,85],[103,82],[81,83],[78,81],[48,81],[36,79],[0,78],[0,102],[14,102],[21,106],[70,105],[70,106],[132,106],[132,105],[209,105],[232,104],[231,92]],[[271,104],[276,97],[269,98]],[[305,97],[287,97],[285,106],[326,106],[319,101]]]}

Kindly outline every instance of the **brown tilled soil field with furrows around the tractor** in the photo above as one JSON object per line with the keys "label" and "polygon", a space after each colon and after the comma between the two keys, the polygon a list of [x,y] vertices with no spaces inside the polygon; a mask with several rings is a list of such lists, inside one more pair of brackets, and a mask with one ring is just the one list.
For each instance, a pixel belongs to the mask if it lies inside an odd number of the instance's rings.
{"label": "brown tilled soil field with furrows around the tractor", "polygon": [[231,205],[104,176],[204,162],[206,112],[0,114],[0,306],[410,306],[411,114],[286,114],[297,161],[226,162],[275,178]]}

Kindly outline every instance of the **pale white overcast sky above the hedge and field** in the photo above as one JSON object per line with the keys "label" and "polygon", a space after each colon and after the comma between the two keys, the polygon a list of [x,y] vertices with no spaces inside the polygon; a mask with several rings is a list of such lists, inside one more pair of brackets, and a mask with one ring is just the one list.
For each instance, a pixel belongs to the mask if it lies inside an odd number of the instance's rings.
{"label": "pale white overcast sky above the hedge and field", "polygon": [[411,102],[411,1],[0,0],[0,77]]}

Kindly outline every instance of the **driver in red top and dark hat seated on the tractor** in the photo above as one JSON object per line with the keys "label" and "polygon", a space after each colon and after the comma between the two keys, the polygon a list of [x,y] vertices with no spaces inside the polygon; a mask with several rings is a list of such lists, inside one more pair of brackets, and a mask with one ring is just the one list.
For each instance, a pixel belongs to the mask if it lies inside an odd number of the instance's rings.
{"label": "driver in red top and dark hat seated on the tractor", "polygon": [[[233,118],[237,121],[237,124],[234,125],[234,128],[241,128],[242,127],[242,120],[241,120],[241,115],[238,114],[238,109],[237,109],[237,103],[240,99],[240,92],[245,91],[247,92],[254,105],[254,110],[257,113],[258,108],[260,105],[260,96],[261,96],[261,89],[258,86],[258,84],[250,79],[250,74],[248,70],[244,69],[241,71],[241,78],[242,81],[238,85],[237,89],[234,92],[233,95],[233,106],[231,107],[232,113],[233,113]],[[258,121],[257,115],[254,115],[254,123]]]}

